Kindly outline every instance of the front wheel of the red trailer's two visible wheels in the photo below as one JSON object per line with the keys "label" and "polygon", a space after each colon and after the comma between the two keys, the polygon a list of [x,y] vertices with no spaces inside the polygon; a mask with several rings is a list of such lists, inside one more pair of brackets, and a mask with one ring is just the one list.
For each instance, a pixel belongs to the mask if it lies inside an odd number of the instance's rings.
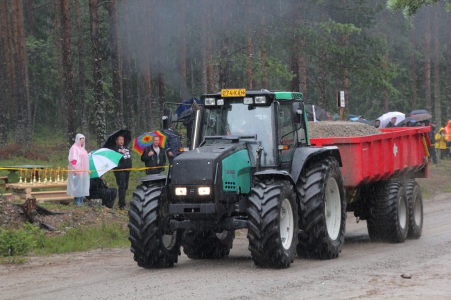
{"label": "front wheel of the red trailer's two visible wheels", "polygon": [[384,182],[375,190],[366,221],[372,241],[404,242],[409,229],[407,195],[398,180]]}

